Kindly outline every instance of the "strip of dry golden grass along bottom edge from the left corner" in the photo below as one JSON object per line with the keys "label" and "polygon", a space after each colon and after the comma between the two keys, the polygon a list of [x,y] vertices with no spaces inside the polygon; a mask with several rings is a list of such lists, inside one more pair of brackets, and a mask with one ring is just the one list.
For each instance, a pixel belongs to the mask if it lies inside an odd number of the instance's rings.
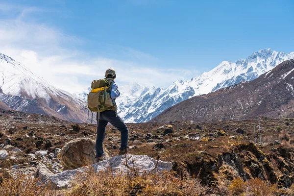
{"label": "strip of dry golden grass along bottom edge from the left corner", "polygon": [[63,191],[51,190],[39,179],[19,174],[3,180],[0,196],[204,196],[207,191],[207,187],[200,185],[197,179],[181,180],[172,172],[143,175],[112,173],[89,170],[72,181],[72,188]]}

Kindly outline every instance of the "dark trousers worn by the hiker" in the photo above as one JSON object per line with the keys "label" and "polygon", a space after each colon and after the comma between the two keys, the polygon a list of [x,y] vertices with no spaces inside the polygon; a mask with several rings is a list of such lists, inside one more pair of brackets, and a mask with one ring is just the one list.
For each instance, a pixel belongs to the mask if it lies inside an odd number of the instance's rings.
{"label": "dark trousers worn by the hiker", "polygon": [[123,150],[127,147],[128,140],[128,128],[126,127],[123,120],[117,116],[115,111],[106,110],[100,112],[100,120],[98,121],[97,127],[97,138],[96,138],[96,157],[103,155],[102,143],[105,138],[105,130],[107,123],[111,123],[121,132],[121,147],[120,150]]}

